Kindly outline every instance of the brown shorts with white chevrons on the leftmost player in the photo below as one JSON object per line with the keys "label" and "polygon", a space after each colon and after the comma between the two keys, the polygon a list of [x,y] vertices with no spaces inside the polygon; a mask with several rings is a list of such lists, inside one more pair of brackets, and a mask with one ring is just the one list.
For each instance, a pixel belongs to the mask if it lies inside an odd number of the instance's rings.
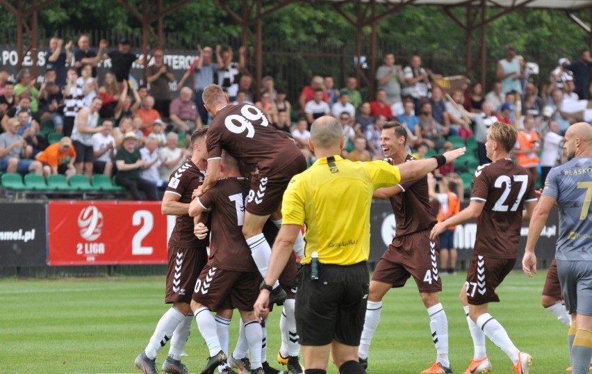
{"label": "brown shorts with white chevrons on the leftmost player", "polygon": [[179,248],[168,247],[167,289],[165,302],[191,302],[195,281],[206,263],[206,247]]}

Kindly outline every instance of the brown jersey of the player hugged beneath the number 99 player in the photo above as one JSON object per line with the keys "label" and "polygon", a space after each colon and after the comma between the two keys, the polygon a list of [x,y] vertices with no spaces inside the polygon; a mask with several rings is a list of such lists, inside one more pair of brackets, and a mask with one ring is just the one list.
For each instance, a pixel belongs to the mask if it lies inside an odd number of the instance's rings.
{"label": "brown jersey of the player hugged beneath the number 99 player", "polygon": [[245,220],[245,197],[249,179],[222,178],[204,195],[199,203],[211,210],[212,225],[208,265],[234,271],[257,271],[251,250],[242,236]]}

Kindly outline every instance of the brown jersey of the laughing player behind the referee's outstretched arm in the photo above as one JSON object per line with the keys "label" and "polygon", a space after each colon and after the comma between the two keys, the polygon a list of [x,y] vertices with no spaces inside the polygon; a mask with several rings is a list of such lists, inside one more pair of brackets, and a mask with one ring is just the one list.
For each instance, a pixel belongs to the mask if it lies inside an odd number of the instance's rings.
{"label": "brown jersey of the laughing player behind the referee's outstretched arm", "polygon": [[[414,159],[408,154],[405,162]],[[390,158],[388,160],[393,164]],[[436,225],[436,217],[429,205],[427,177],[400,183],[399,186],[402,192],[390,197],[390,205],[395,213],[395,235],[409,235]]]}

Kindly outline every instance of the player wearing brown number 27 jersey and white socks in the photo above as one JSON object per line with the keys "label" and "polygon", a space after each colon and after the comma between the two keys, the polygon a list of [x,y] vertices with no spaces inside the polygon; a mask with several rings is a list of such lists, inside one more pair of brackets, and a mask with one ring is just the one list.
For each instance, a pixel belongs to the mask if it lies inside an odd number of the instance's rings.
{"label": "player wearing brown number 27 jersey and white socks", "polygon": [[[507,124],[491,125],[485,148],[493,162],[475,171],[469,206],[431,230],[431,238],[436,238],[450,226],[477,219],[475,248],[459,295],[475,351],[465,373],[491,372],[485,336],[508,355],[516,373],[527,374],[532,365],[532,357],[516,348],[504,327],[487,311],[490,302],[500,301],[495,288],[516,263],[522,222],[529,220],[536,205],[534,180],[525,168],[509,158],[517,136],[516,129]],[[500,233],[504,233],[503,240]]]}

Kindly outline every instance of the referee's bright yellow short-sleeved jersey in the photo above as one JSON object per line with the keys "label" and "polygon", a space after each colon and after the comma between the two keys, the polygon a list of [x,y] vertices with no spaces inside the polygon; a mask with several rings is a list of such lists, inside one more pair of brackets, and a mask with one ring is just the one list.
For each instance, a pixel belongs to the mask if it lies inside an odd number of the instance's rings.
{"label": "referee's bright yellow short-sleeved jersey", "polygon": [[283,225],[306,225],[305,257],[318,252],[320,263],[353,265],[370,254],[372,193],[395,186],[399,168],[386,161],[352,162],[320,158],[293,177],[283,194]]}

